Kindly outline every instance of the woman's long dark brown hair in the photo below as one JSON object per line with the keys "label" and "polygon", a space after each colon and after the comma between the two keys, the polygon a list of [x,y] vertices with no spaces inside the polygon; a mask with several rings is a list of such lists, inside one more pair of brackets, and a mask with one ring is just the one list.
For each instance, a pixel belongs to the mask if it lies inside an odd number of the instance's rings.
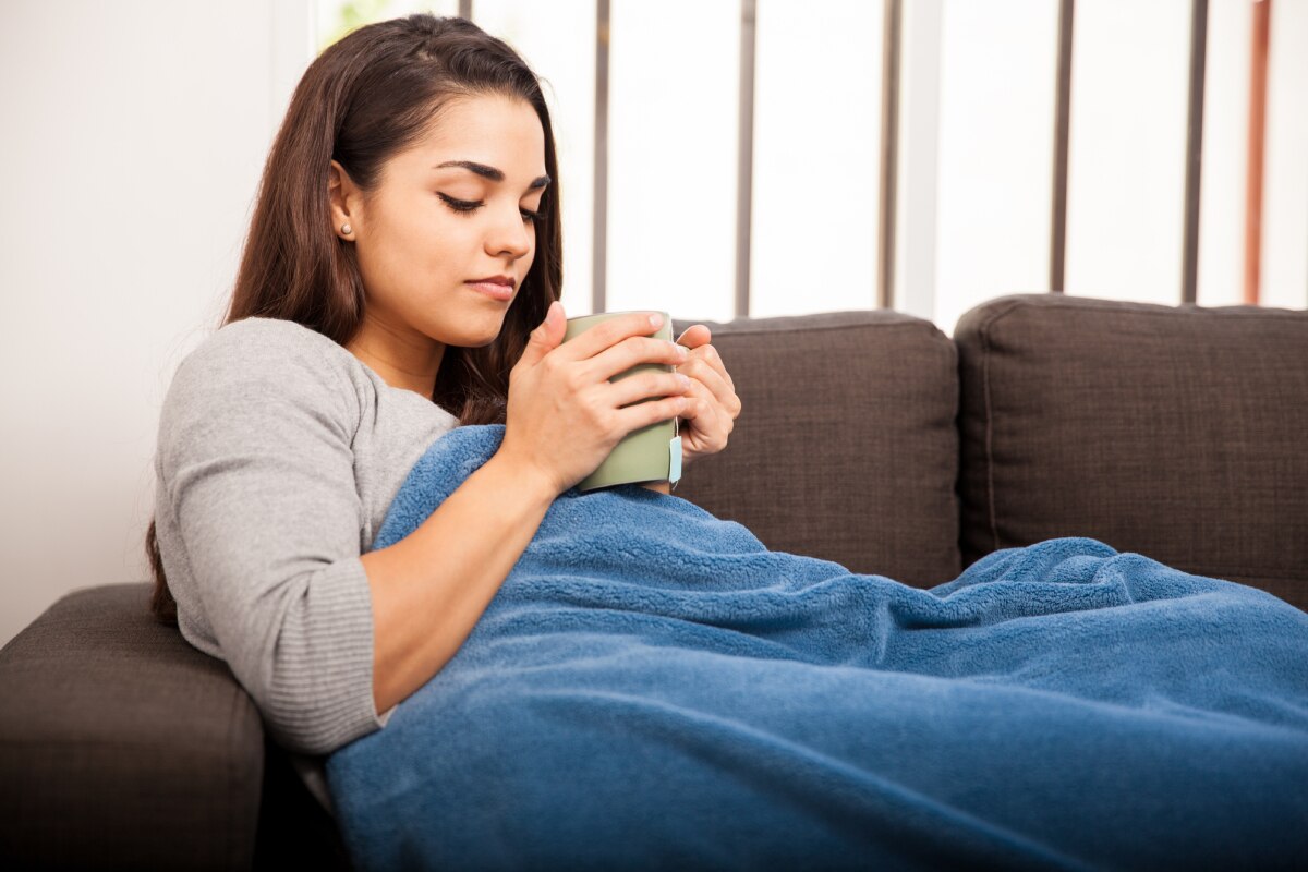
{"label": "woman's long dark brown hair", "polygon": [[[467,424],[502,424],[509,371],[562,288],[559,162],[536,75],[505,42],[464,18],[412,14],[351,31],[309,65],[263,169],[241,269],[224,324],[281,318],[344,345],[364,318],[353,244],[332,231],[327,170],[340,162],[364,190],[417,141],[441,107],[466,95],[526,101],[545,135],[552,179],[536,225],[536,254],[493,343],[446,346],[432,401]],[[145,533],[154,591],[150,612],[177,622],[154,519]]]}

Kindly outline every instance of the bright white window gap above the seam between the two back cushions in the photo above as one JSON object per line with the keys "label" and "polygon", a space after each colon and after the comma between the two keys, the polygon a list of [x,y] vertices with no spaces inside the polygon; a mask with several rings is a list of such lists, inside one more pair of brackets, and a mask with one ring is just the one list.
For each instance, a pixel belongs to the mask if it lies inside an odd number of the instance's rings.
{"label": "bright white window gap above the seam between the two back cushions", "polygon": [[952,335],[982,299],[1049,290],[1058,4],[946,0],[942,25],[937,286],[926,294]]}

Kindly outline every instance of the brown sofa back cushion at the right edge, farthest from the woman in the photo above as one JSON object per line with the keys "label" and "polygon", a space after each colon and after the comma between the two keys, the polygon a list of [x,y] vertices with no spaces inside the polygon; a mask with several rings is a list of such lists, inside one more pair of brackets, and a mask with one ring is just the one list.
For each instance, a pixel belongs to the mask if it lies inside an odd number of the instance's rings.
{"label": "brown sofa back cushion at the right edge, farthest from the woman", "polygon": [[965,565],[1091,536],[1308,607],[1308,312],[1018,294],[954,339]]}

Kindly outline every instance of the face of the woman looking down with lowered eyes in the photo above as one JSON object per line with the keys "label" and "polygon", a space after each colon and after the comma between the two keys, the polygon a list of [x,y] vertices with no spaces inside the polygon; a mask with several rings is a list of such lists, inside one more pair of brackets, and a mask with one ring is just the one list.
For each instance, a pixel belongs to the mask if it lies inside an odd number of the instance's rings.
{"label": "face of the woman looking down with lowered eyes", "polygon": [[[331,179],[335,231],[351,225],[345,238],[364,280],[364,345],[391,346],[392,357],[403,348],[411,358],[425,348],[438,365],[443,345],[498,336],[536,252],[528,213],[540,210],[549,183],[544,133],[528,103],[456,98],[383,165],[373,191],[362,193],[335,162]],[[471,284],[479,278],[508,278],[509,299],[479,290]]]}

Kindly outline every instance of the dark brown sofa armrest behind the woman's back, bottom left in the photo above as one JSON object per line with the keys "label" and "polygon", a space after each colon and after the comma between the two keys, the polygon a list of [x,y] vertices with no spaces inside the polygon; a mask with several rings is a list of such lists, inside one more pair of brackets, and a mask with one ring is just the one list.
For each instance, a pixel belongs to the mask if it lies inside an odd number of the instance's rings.
{"label": "dark brown sofa armrest behind the woman's back, bottom left", "polygon": [[148,597],[144,583],[75,591],[0,650],[9,868],[251,865],[259,714]]}

